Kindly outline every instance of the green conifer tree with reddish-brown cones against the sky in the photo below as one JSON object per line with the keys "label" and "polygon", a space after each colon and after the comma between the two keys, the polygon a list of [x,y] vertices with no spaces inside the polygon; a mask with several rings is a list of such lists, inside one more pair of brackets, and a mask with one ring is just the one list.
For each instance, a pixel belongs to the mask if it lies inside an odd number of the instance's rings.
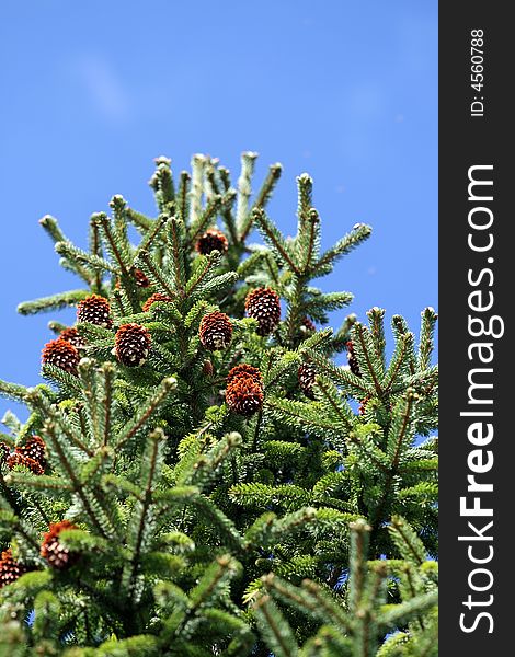
{"label": "green conifer tree with reddish-brown cones against the sky", "polygon": [[42,219],[80,284],[19,311],[77,321],[0,381],[0,655],[436,655],[436,314],[324,327],[370,228],[322,251],[302,174],[285,237],[255,158],[158,158],[157,217],[116,195],[89,250]]}

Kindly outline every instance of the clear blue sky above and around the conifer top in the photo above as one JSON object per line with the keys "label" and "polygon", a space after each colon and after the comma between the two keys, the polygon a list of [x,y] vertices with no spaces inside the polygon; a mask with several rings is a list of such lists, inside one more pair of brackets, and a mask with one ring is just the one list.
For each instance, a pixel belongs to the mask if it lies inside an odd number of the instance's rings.
{"label": "clear blue sky above and around the conifer top", "polygon": [[374,227],[323,287],[415,331],[437,308],[436,0],[2,0],[0,51],[1,378],[39,382],[48,320],[71,321],[15,313],[78,287],[37,220],[84,244],[113,194],[153,214],[160,154],[179,171],[209,153],[237,175],[254,150],[258,180],[281,161],[270,211],[285,232],[307,171],[324,245]]}

